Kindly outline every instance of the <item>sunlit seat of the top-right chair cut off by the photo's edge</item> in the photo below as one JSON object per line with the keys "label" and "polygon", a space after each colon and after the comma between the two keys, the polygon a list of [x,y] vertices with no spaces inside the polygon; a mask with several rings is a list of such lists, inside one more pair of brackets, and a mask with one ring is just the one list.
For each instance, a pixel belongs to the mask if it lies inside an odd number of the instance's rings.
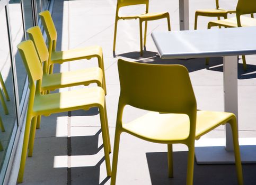
{"label": "sunlit seat of the top-right chair cut off by the photo's edge", "polygon": [[[244,26],[256,26],[256,18],[241,16],[241,25]],[[211,26],[220,25],[226,27],[237,27],[236,17],[226,18],[224,20],[210,21]]]}

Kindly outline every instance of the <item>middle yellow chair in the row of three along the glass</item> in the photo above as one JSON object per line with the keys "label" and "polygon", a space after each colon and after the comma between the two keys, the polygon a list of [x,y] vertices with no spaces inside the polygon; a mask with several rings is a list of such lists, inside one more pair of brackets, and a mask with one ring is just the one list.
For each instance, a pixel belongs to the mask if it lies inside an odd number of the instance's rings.
{"label": "middle yellow chair in the row of three along the glass", "polygon": [[[43,64],[42,92],[78,85],[87,86],[92,83],[96,83],[103,88],[103,72],[99,67],[48,74],[49,53],[40,27],[31,27],[27,30],[27,33],[37,49],[41,64]],[[37,119],[37,128],[40,127],[40,121],[41,117],[39,116]]]}

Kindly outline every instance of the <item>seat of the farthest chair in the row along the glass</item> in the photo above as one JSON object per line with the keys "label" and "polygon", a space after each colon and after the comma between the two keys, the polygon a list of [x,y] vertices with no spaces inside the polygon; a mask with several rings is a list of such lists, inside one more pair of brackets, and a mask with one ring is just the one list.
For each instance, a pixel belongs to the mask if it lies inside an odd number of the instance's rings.
{"label": "seat of the farthest chair in the row along the glass", "polygon": [[67,51],[55,51],[51,54],[51,62],[60,63],[65,61],[91,59],[102,56],[102,49],[98,45],[85,48],[70,49]]}

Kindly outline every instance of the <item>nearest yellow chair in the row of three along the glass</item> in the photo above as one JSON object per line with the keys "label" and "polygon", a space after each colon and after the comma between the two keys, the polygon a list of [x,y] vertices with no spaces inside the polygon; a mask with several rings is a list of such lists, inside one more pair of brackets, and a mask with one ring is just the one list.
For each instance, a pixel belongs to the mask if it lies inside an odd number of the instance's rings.
{"label": "nearest yellow chair in the row of three along the glass", "polygon": [[49,116],[54,113],[68,112],[78,109],[90,109],[98,107],[100,112],[100,121],[102,128],[103,146],[107,175],[111,175],[110,168],[110,141],[107,125],[107,114],[105,107],[105,92],[101,87],[83,88],[73,91],[65,91],[54,94],[42,95],[42,66],[38,57],[36,48],[31,40],[20,43],[17,48],[20,51],[25,68],[29,77],[29,104],[27,120],[24,132],[24,141],[22,147],[20,171],[17,182],[22,182],[25,168],[25,161],[29,146],[29,156],[32,155],[34,136],[36,133],[37,116]]}

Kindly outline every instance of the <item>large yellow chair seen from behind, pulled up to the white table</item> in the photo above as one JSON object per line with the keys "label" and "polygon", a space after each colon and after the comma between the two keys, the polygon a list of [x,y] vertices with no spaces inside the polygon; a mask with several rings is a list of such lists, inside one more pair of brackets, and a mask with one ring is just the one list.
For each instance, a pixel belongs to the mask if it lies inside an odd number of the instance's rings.
{"label": "large yellow chair seen from behind, pulled up to the white table", "polygon": [[[195,140],[227,122],[232,127],[238,182],[243,184],[236,117],[232,113],[197,110],[189,73],[184,66],[134,63],[119,59],[118,70],[120,97],[111,185],[116,183],[122,132],[146,141],[167,144],[169,177],[173,177],[172,144],[186,144],[189,150],[187,184],[192,184]],[[134,121],[123,123],[122,114],[126,105],[150,112]]]}

